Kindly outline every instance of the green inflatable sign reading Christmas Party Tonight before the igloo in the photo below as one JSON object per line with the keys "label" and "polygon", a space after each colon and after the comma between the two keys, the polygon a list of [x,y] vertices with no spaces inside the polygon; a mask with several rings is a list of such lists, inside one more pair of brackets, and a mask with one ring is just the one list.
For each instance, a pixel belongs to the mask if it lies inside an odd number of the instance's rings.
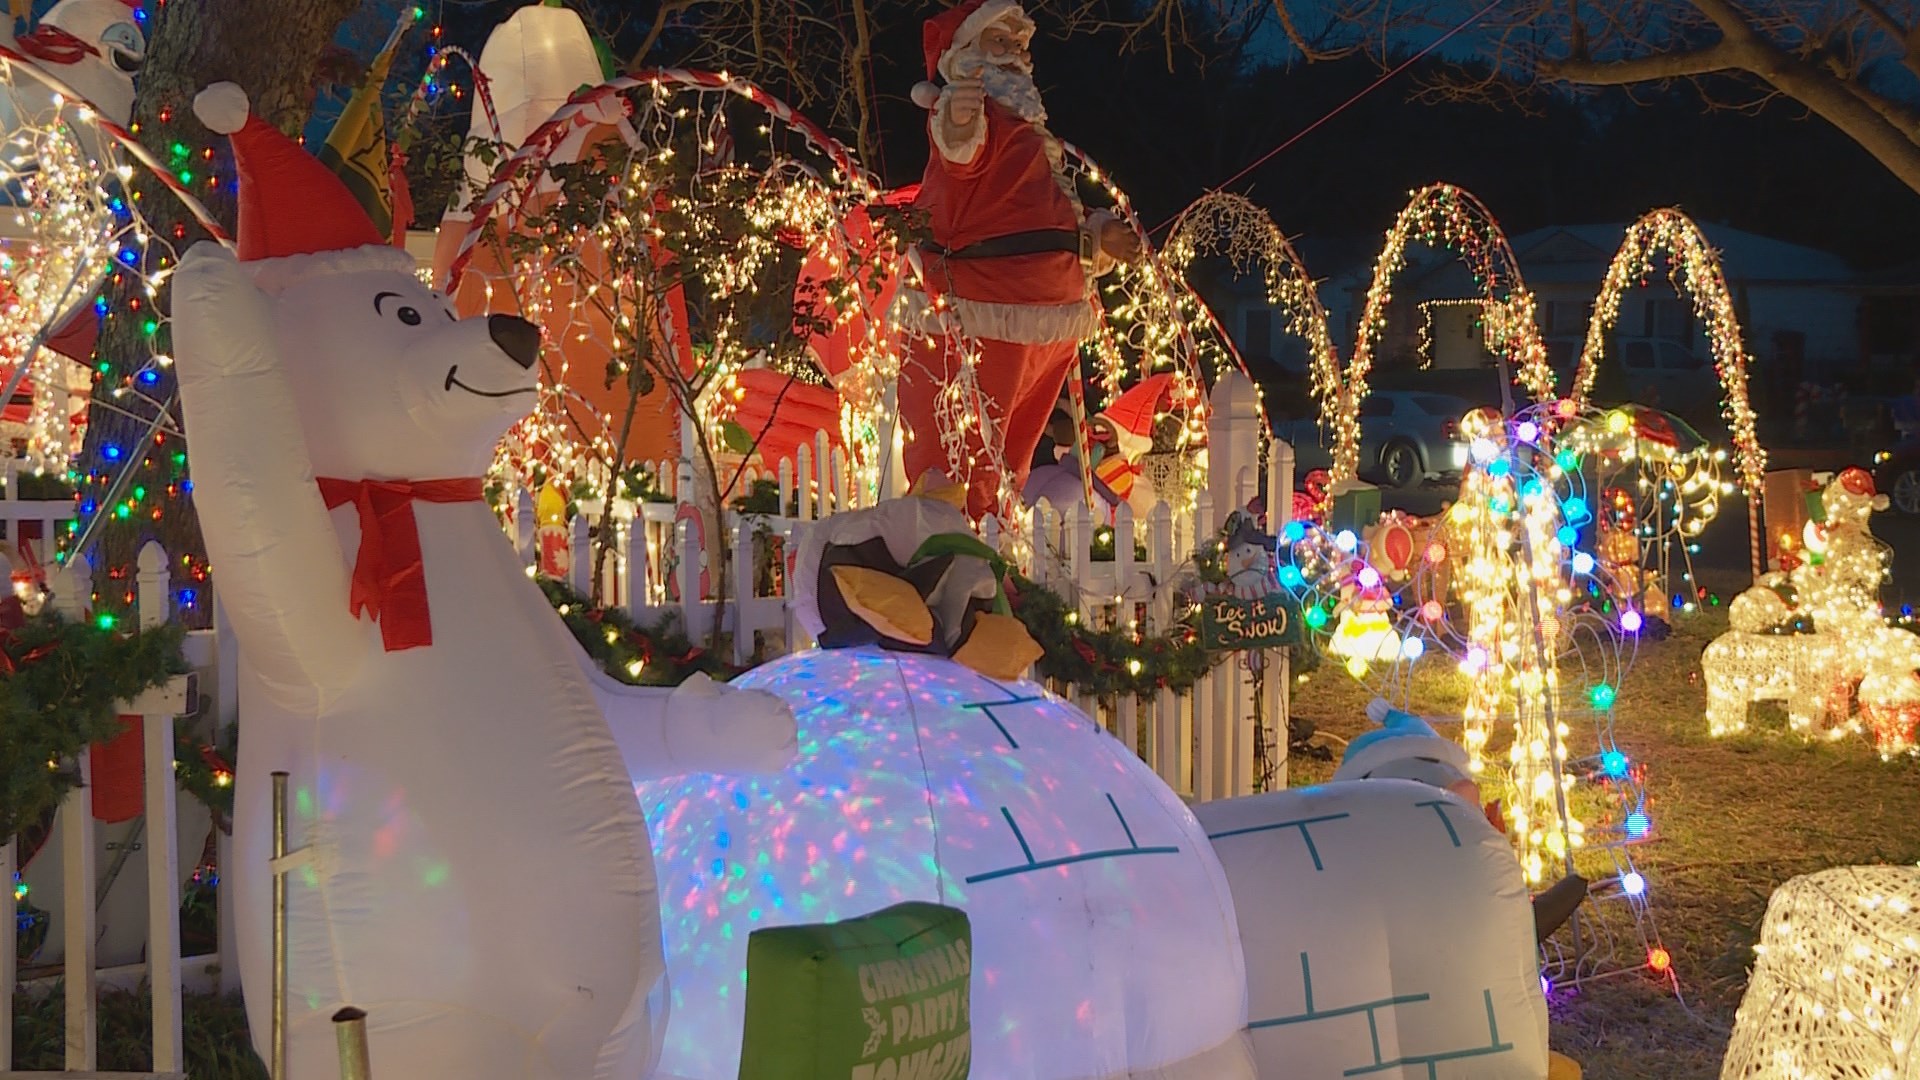
{"label": "green inflatable sign reading Christmas Party Tonight before the igloo", "polygon": [[739,1080],[962,1080],[972,974],[966,911],[937,903],[755,930]]}

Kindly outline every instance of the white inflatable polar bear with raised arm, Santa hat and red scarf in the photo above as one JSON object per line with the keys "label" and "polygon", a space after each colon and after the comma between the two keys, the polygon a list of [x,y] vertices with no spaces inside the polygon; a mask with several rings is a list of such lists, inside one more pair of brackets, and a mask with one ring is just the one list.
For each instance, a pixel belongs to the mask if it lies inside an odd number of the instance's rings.
{"label": "white inflatable polar bear with raised arm, Santa hat and red scarf", "polygon": [[228,880],[257,1045],[269,774],[286,771],[292,1076],[338,1072],[342,1005],[371,1013],[394,1076],[647,1076],[666,988],[632,778],[778,769],[793,717],[705,680],[668,696],[589,671],[480,496],[534,400],[540,332],[455,319],[238,86],[194,111],[240,171],[238,259],[192,248],[173,317],[242,655]]}

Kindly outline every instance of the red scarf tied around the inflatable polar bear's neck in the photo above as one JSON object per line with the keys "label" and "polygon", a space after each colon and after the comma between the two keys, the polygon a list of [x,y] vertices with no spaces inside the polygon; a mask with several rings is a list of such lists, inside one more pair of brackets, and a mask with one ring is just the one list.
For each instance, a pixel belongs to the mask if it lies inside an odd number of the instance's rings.
{"label": "red scarf tied around the inflatable polar bear's neck", "polygon": [[426,567],[413,502],[480,502],[480,477],[451,480],[336,480],[321,477],[326,509],[353,503],[361,519],[361,548],[353,557],[348,609],[380,623],[386,651],[434,644],[426,609]]}

